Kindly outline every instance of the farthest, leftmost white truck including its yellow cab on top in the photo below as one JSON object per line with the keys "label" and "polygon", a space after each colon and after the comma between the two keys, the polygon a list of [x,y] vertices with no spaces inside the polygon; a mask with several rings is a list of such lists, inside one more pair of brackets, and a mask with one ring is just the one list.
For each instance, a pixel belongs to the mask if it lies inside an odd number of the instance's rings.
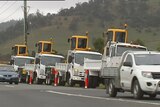
{"label": "farthest, leftmost white truck including its yellow cab on top", "polygon": [[34,58],[28,55],[26,45],[16,44],[12,47],[12,56],[10,64],[14,67],[15,71],[19,74],[19,82],[26,82],[27,72],[24,70],[25,64],[34,63]]}

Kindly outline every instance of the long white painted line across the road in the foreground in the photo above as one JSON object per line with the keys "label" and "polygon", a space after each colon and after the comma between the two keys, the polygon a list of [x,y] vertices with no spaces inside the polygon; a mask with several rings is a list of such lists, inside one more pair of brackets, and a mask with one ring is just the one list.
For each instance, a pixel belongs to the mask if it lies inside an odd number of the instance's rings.
{"label": "long white painted line across the road in the foreground", "polygon": [[150,105],[158,105],[158,106],[160,106],[160,103],[127,100],[127,99],[121,99],[121,98],[119,98],[119,99],[117,99],[117,98],[103,98],[103,97],[96,97],[96,96],[87,96],[87,95],[77,95],[77,94],[63,93],[63,92],[57,92],[57,91],[46,91],[46,92],[53,93],[53,94],[66,95],[66,96],[74,96],[74,97],[92,98],[92,99],[108,100],[108,101],[120,101],[120,102],[128,102],[128,103],[150,104]]}

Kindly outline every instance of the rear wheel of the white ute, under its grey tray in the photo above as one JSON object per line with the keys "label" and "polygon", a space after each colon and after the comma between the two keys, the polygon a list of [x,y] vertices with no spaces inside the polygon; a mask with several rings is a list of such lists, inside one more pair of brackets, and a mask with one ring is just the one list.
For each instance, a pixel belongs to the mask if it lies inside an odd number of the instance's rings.
{"label": "rear wheel of the white ute, under its grey tray", "polygon": [[109,81],[108,93],[109,93],[110,97],[116,97],[117,96],[117,89],[115,88],[112,81]]}

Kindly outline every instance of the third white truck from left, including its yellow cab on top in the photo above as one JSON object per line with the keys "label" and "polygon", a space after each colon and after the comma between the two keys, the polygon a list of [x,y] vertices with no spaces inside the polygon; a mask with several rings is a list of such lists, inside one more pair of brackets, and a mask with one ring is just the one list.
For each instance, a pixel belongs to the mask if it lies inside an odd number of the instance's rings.
{"label": "third white truck from left, including its yellow cab on top", "polygon": [[75,84],[84,86],[84,58],[100,60],[102,55],[89,49],[87,35],[74,35],[68,42],[71,44],[71,49],[68,50],[67,63],[56,64],[56,70],[62,76],[59,82],[67,82],[69,86]]}

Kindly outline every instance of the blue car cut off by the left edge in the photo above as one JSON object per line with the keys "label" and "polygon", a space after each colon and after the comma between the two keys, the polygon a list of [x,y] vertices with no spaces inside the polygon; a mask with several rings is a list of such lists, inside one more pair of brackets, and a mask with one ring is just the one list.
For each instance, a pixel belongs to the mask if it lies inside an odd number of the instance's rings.
{"label": "blue car cut off by the left edge", "polygon": [[18,73],[11,65],[0,65],[0,82],[19,83]]}

